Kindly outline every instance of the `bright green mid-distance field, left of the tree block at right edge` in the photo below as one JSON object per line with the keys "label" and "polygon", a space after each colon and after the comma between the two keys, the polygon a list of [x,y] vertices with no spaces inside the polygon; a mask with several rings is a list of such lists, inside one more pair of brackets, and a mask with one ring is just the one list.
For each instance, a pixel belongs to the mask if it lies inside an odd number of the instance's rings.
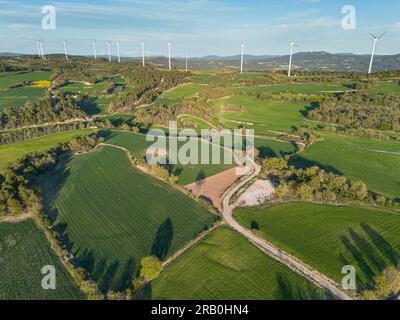
{"label": "bright green mid-distance field, left of the tree block at right edge", "polygon": [[[304,125],[305,105],[293,102],[264,101],[254,96],[233,96],[228,99],[214,100],[222,111],[223,119],[252,123],[247,126],[262,135],[268,130],[292,131],[293,126]],[[223,111],[224,106],[241,107],[237,111]]]}

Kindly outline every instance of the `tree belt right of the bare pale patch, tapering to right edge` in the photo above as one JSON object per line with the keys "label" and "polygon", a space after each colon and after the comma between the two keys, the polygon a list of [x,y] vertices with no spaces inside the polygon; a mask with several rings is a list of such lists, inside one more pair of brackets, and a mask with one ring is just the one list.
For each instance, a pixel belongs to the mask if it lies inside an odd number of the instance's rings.
{"label": "tree belt right of the bare pale patch, tapering to right edge", "polygon": [[263,163],[263,174],[278,183],[276,196],[282,200],[366,203],[400,210],[399,202],[369,192],[364,182],[319,167],[297,169],[284,159],[270,158]]}

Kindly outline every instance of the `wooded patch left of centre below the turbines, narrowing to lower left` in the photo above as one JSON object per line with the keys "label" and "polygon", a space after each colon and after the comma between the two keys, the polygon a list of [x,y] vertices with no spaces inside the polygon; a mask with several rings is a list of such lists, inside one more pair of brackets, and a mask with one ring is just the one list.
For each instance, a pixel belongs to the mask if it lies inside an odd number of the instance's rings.
{"label": "wooded patch left of centre below the turbines, narrowing to lower left", "polygon": [[165,90],[184,83],[190,73],[161,71],[148,66],[125,70],[122,75],[131,89],[118,94],[110,105],[110,112],[131,109],[139,101],[140,104],[151,104]]}

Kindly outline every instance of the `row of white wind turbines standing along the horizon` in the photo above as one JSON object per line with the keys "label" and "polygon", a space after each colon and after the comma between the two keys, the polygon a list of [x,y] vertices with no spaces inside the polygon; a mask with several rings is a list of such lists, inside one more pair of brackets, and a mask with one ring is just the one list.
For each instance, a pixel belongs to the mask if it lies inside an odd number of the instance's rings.
{"label": "row of white wind turbines standing along the horizon", "polygon": [[[386,33],[387,33],[387,31],[382,33],[380,36],[376,36],[374,34],[371,34],[372,39],[373,39],[373,48],[372,48],[371,61],[370,61],[370,64],[369,64],[368,74],[372,73],[372,66],[373,66],[373,62],[374,62],[374,56],[375,56],[375,53],[376,53],[376,49],[378,47],[379,40]],[[63,39],[65,59],[69,60],[67,44],[68,44],[68,41]],[[93,45],[94,59],[97,59],[97,41],[96,40],[92,40],[92,45]],[[107,45],[108,61],[111,62],[112,61],[112,58],[111,58],[111,42],[107,41],[106,45]],[[146,57],[145,57],[145,50],[144,50],[145,49],[144,42],[141,42],[140,45],[141,45],[141,49],[142,49],[142,64],[143,64],[143,67],[145,67],[145,65],[146,65]],[[36,46],[37,46],[37,49],[38,49],[39,58],[45,59],[43,40],[36,41]],[[118,62],[121,63],[119,42],[116,42],[115,46],[116,46],[116,49],[117,49]],[[299,45],[297,43],[290,42],[288,77],[290,77],[291,73],[292,73],[292,61],[293,61],[294,48],[298,47],[298,46]],[[172,47],[172,44],[170,42],[168,42],[168,69],[169,70],[172,69],[171,47]],[[241,74],[243,74],[243,66],[244,66],[244,48],[245,48],[245,45],[241,44],[241,56],[240,56],[240,73]],[[186,72],[187,72],[188,71],[188,49],[186,49],[186,58],[185,58],[185,60],[186,60],[185,61],[185,69],[186,69]]]}

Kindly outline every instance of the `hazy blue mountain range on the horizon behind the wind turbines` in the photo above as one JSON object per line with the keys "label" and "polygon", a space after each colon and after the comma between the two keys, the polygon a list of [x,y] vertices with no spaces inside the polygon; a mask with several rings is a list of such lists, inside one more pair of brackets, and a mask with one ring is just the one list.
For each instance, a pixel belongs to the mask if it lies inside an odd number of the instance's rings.
{"label": "hazy blue mountain range on the horizon behind the wind turbines", "polygon": [[[0,53],[0,56],[15,56],[12,53]],[[299,52],[293,55],[293,67],[313,71],[360,71],[368,70],[371,56],[352,53]],[[115,59],[115,57],[114,57]],[[139,60],[139,58],[122,58],[123,60]],[[245,69],[250,71],[286,69],[289,56],[245,55]],[[168,66],[166,57],[147,57],[147,62],[156,66]],[[184,68],[185,58],[175,58],[174,67]],[[240,68],[240,55],[236,56],[205,56],[189,59],[190,69],[231,69]],[[400,54],[375,56],[374,71],[400,70]]]}

